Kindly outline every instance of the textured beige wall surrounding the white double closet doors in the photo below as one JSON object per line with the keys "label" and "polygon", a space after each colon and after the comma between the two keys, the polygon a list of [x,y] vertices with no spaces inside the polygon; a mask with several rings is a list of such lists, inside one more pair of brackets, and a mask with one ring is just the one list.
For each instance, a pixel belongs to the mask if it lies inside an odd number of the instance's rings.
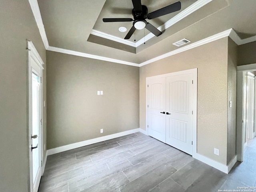
{"label": "textured beige wall surrounding the white double closet doors", "polygon": [[140,128],[146,129],[146,77],[198,68],[198,153],[226,164],[227,61],[228,37],[140,67]]}

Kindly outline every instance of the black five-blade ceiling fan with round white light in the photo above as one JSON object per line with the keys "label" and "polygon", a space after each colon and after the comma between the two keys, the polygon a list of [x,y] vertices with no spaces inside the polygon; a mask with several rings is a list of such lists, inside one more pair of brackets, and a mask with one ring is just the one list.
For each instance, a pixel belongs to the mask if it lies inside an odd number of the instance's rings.
{"label": "black five-blade ceiling fan with round white light", "polygon": [[103,18],[103,22],[131,22],[133,21],[132,28],[125,36],[124,39],[130,39],[132,34],[136,29],[140,30],[146,28],[152,32],[155,36],[160,36],[162,32],[154,27],[152,24],[146,21],[146,19],[154,19],[172,12],[176,12],[181,9],[180,1],[168,5],[164,8],[158,9],[151,13],[148,13],[148,8],[145,5],[141,4],[141,0],[132,0],[133,9],[132,9],[132,18]]}

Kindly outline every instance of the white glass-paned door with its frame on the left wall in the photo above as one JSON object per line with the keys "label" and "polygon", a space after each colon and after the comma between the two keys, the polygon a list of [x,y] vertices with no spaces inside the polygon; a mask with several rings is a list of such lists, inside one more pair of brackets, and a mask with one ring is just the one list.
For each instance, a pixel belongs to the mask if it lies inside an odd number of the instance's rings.
{"label": "white glass-paned door with its frame on the left wall", "polygon": [[28,42],[28,103],[30,191],[37,192],[42,176],[42,59]]}

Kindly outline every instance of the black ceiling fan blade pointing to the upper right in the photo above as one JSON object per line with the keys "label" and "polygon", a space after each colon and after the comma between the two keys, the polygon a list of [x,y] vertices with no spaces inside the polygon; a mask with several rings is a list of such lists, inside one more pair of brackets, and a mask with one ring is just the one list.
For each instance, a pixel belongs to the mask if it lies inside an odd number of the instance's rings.
{"label": "black ceiling fan blade pointing to the upper right", "polygon": [[176,12],[180,9],[181,9],[181,3],[180,3],[180,1],[178,1],[174,4],[168,5],[164,8],[161,8],[161,9],[158,9],[156,11],[153,11],[153,12],[149,13],[147,15],[147,18],[148,19],[154,19],[154,18],[163,16],[163,15],[166,15],[166,14],[169,14],[169,13],[172,13],[172,12]]}

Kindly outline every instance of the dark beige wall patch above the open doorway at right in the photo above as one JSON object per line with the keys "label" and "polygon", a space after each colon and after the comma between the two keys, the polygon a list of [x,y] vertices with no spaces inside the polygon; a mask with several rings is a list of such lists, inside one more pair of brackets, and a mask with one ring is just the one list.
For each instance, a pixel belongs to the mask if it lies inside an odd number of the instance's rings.
{"label": "dark beige wall patch above the open doorway at right", "polygon": [[238,64],[256,63],[256,41],[238,46]]}

